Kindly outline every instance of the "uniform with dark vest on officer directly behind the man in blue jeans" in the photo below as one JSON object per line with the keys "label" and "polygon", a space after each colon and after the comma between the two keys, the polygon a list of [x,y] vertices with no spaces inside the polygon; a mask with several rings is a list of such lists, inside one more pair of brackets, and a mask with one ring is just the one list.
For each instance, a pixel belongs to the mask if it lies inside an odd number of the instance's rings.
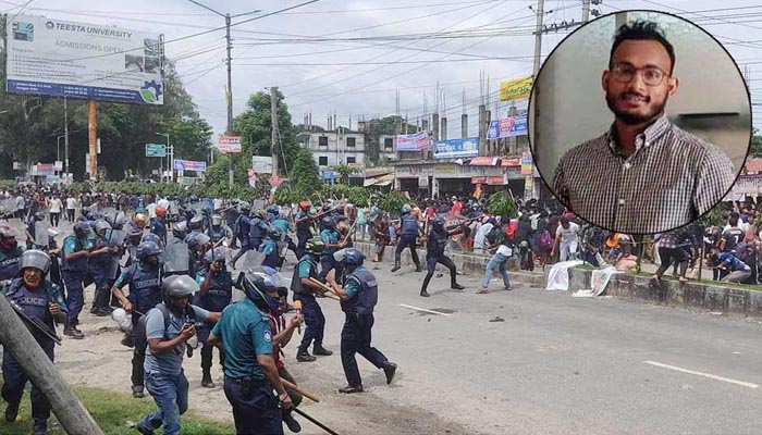
{"label": "uniform with dark vest on officer directly behind the man in blue jeans", "polygon": [[[161,302],[161,276],[159,268],[148,269],[142,263],[133,263],[130,269],[122,272],[114,287],[122,288],[130,286],[130,295],[127,299],[133,304],[133,330],[137,327],[140,314],[148,313],[148,310]],[[146,343],[136,343],[133,349],[133,371],[132,382],[133,387],[143,387],[145,384],[143,364],[146,359]]]}

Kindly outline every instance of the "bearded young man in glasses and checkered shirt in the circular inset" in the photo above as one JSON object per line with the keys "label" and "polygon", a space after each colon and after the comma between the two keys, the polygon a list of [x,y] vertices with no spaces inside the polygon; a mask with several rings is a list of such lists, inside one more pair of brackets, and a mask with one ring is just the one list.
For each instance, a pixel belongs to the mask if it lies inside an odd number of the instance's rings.
{"label": "bearded young man in glasses and checkered shirt in the circular inset", "polygon": [[678,88],[674,69],[674,48],[655,23],[619,27],[602,76],[615,121],[566,152],[553,181],[558,199],[586,221],[627,234],[673,229],[733,184],[728,157],[667,119],[664,107]]}

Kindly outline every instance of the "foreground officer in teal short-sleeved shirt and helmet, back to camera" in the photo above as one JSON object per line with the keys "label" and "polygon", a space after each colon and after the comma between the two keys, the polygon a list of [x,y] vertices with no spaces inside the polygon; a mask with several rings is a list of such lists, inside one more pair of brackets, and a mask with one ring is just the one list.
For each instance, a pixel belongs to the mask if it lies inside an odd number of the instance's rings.
{"label": "foreground officer in teal short-sleeved shirt and helmet, back to camera", "polygon": [[246,299],[225,308],[209,336],[211,343],[219,341],[226,350],[224,390],[241,435],[282,435],[282,410],[287,413],[293,408],[272,357],[272,332],[267,316],[267,288],[278,286],[282,278],[268,269],[246,272],[242,279]]}

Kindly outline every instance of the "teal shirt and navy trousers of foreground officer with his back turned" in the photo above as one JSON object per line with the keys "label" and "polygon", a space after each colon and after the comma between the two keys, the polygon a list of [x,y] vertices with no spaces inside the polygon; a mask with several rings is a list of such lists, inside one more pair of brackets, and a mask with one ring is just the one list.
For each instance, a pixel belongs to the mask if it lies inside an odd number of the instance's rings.
{"label": "teal shirt and navy trousers of foreground officer with his back turned", "polygon": [[273,353],[268,315],[247,298],[225,308],[212,334],[226,349],[224,391],[237,433],[282,435],[278,398],[257,364],[258,355]]}

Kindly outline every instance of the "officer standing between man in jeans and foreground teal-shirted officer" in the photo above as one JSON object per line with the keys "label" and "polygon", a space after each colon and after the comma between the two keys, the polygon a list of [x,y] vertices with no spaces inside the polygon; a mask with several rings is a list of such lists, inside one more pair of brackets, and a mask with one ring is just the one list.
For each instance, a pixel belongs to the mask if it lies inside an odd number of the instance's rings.
{"label": "officer standing between man in jeans and foreground teal-shirted officer", "polygon": [[[206,268],[196,274],[196,282],[200,285],[196,304],[207,311],[221,312],[230,304],[233,298],[233,279],[231,273],[225,269],[224,248],[209,250],[204,257]],[[211,380],[212,348],[209,344],[209,332],[211,326],[205,324],[198,333],[198,341],[201,347],[201,386],[214,388]],[[220,365],[225,364],[225,352],[220,349]]]}

